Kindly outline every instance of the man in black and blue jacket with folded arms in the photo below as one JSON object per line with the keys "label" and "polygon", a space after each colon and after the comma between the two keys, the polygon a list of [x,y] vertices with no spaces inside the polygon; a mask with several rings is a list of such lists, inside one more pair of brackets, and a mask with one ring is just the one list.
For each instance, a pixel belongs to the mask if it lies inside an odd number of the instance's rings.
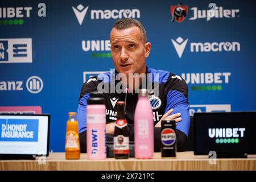
{"label": "man in black and blue jacket with folded arms", "polygon": [[[134,140],[134,111],[138,101],[135,92],[141,88],[129,82],[129,76],[134,73],[146,75],[158,75],[152,77],[150,84],[158,84],[157,94],[150,96],[154,117],[154,151],[160,152],[160,126],[163,119],[174,119],[176,122],[177,151],[180,151],[188,137],[190,118],[188,105],[187,83],[180,76],[168,71],[156,70],[146,66],[146,58],[150,55],[151,43],[147,42],[146,31],[141,22],[131,18],[117,20],[110,32],[110,44],[114,74],[123,73],[127,76],[127,87],[133,88],[129,92],[104,93],[106,105],[106,140],[113,142],[115,119],[117,117],[117,101],[126,101],[125,115],[128,123],[130,141]],[[131,74],[133,73],[133,74]],[[79,122],[79,137],[81,152],[86,152],[86,107],[89,93],[97,91],[98,85],[104,80],[109,85],[112,73],[101,73],[97,77],[91,77],[82,85],[79,105],[77,109],[77,121]],[[117,85],[120,80],[115,80]],[[121,80],[122,81],[122,80]],[[148,80],[147,80],[148,81]],[[154,88],[154,86],[152,86]],[[155,86],[156,89],[156,86]],[[134,92],[133,92],[134,91]]]}

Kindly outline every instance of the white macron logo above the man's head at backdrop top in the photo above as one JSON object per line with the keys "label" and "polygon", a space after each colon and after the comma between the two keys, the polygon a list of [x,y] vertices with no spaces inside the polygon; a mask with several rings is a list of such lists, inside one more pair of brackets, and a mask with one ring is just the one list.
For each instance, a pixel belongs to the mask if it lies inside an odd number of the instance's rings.
{"label": "white macron logo above the man's head at backdrop top", "polygon": [[[72,6],[72,9],[80,25],[82,24],[85,18],[88,8],[89,6],[84,7],[81,4],[77,7]],[[90,19],[121,19],[121,18],[141,18],[141,11],[139,11],[138,9],[91,10],[90,11]]]}

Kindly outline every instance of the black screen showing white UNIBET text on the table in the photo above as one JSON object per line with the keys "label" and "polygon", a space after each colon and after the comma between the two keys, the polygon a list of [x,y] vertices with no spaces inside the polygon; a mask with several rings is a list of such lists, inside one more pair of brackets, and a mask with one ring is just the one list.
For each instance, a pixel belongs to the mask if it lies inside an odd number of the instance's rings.
{"label": "black screen showing white UNIBET text on the table", "polygon": [[195,113],[195,155],[256,154],[256,112]]}

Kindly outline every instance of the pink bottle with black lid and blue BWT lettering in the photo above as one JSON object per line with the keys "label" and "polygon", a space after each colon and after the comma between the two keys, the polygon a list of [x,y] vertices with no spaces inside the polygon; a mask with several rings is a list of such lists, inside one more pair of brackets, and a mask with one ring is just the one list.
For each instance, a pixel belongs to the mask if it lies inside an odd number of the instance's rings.
{"label": "pink bottle with black lid and blue BWT lettering", "polygon": [[106,106],[105,100],[97,92],[90,93],[87,101],[87,158],[106,159]]}

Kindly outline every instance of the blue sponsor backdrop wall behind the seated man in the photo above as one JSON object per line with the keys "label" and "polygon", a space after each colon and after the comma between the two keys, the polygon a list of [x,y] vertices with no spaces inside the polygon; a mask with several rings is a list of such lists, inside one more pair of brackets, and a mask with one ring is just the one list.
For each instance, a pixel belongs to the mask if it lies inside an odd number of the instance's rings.
{"label": "blue sponsor backdrop wall behind the seated man", "polygon": [[[1,108],[42,107],[51,114],[50,150],[63,152],[68,112],[89,76],[114,68],[109,33],[128,17],[152,43],[147,66],[187,81],[191,114],[256,110],[254,1],[180,2],[0,1]],[[172,21],[171,6],[185,15]]]}

